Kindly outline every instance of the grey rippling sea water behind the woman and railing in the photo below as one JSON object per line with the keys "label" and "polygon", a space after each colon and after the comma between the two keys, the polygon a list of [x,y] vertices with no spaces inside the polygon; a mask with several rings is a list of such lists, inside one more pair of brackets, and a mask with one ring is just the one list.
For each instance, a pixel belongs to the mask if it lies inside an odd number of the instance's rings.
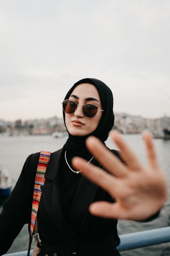
{"label": "grey rippling sea water behind the woman and railing", "polygon": [[[128,144],[133,148],[139,160],[143,165],[147,165],[145,145],[141,134],[125,134],[123,135]],[[5,136],[0,135],[0,167],[5,168],[10,173],[12,179],[12,188],[20,175],[25,159],[28,155],[39,151],[54,152],[60,149],[66,142],[67,137],[54,138],[51,135],[27,135],[27,136]],[[170,187],[170,140],[154,139],[154,144],[158,156],[160,166],[162,167],[167,177],[168,185]],[[106,145],[111,149],[117,149],[117,146],[107,139]],[[170,190],[169,190],[170,191]],[[0,212],[3,207],[3,202],[0,205]],[[157,229],[167,227],[170,225],[170,192],[169,199],[161,210],[158,218],[146,222],[139,223],[135,221],[118,221],[118,234],[128,234],[143,230]],[[9,230],[10,236],[10,230]],[[8,238],[7,238],[8,240]],[[14,240],[8,253],[26,251],[28,250],[29,233],[28,225],[25,225],[20,234]],[[34,247],[32,242],[32,249]],[[122,256],[169,256],[170,243],[163,243],[160,245],[148,246],[139,249],[121,252]]]}

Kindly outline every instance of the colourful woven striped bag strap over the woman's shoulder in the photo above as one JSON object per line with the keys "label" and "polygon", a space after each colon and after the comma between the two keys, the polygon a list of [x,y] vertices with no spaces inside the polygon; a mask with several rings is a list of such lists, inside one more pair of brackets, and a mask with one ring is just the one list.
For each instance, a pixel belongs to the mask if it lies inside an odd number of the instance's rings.
{"label": "colourful woven striped bag strap over the woman's shoulder", "polygon": [[45,171],[50,159],[50,152],[41,151],[39,163],[37,167],[37,173],[35,178],[35,186],[34,186],[34,194],[33,194],[33,201],[32,201],[32,212],[31,212],[31,228],[30,234],[32,237],[35,221],[37,218],[37,211],[40,203],[41,198],[41,189],[40,186],[44,185],[45,182]]}

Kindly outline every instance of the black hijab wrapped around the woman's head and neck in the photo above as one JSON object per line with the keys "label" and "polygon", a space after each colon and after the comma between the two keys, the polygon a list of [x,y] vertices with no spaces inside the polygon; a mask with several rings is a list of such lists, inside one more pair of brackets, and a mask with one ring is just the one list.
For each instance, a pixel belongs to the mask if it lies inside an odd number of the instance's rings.
{"label": "black hijab wrapped around the woman's head and neck", "polygon": [[[97,126],[96,130],[93,131],[91,134],[88,134],[83,137],[77,137],[77,136],[71,135],[69,133],[69,131],[67,130],[67,132],[69,134],[69,138],[65,144],[65,147],[66,147],[66,150],[69,152],[72,152],[73,155],[78,155],[80,157],[87,158],[90,156],[90,153],[88,152],[86,145],[85,145],[85,141],[86,141],[87,137],[89,137],[90,135],[93,135],[93,136],[99,138],[101,140],[101,142],[104,143],[104,141],[106,141],[108,138],[109,131],[112,129],[112,127],[114,125],[113,95],[112,95],[112,91],[110,90],[110,88],[107,85],[105,85],[105,83],[103,83],[102,81],[100,81],[98,79],[94,79],[94,78],[85,78],[85,79],[78,81],[71,87],[71,89],[66,94],[65,99],[69,99],[74,88],[77,85],[80,85],[82,83],[90,83],[96,87],[96,89],[99,93],[99,96],[100,96],[102,109],[104,111],[102,112],[102,116],[101,116],[99,125]],[[63,118],[64,118],[64,123],[65,123],[64,111],[63,111]],[[66,126],[66,123],[65,123],[65,126]],[[66,127],[66,129],[67,129],[67,127]]]}

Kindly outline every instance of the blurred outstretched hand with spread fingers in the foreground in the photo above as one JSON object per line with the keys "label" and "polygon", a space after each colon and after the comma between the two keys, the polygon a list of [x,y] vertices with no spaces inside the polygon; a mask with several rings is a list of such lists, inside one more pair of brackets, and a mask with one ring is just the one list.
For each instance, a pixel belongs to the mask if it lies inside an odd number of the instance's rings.
{"label": "blurred outstretched hand with spread fingers in the foreground", "polygon": [[151,135],[143,133],[147,167],[141,165],[120,133],[112,131],[110,136],[121,150],[121,158],[127,165],[95,137],[87,139],[87,148],[109,173],[91,163],[87,165],[82,158],[73,159],[75,168],[81,169],[85,177],[106,190],[116,201],[92,203],[90,212],[107,218],[145,220],[163,207],[168,196],[167,182],[158,165]]}

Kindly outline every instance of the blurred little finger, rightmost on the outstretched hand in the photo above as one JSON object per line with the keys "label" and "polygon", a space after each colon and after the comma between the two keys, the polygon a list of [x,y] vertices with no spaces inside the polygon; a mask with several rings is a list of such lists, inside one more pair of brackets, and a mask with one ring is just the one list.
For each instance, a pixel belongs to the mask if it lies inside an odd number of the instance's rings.
{"label": "blurred little finger, rightmost on the outstretched hand", "polygon": [[155,153],[151,134],[149,132],[145,131],[143,133],[143,139],[146,144],[148,164],[151,168],[158,170],[159,166],[158,166],[158,162],[156,159],[156,153]]}

